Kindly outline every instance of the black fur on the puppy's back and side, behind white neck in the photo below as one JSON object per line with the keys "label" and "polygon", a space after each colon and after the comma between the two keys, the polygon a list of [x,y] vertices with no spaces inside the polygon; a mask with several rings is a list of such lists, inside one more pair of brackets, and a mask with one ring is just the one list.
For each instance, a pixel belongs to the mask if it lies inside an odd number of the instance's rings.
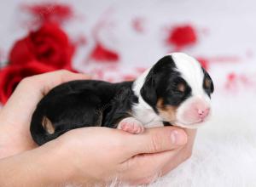
{"label": "black fur on the puppy's back and side, behind white neck", "polygon": [[[32,138],[38,144],[55,139],[78,127],[116,127],[120,119],[129,116],[137,97],[131,91],[132,82],[73,81],[52,89],[42,99],[32,116]],[[42,126],[46,116],[55,127],[49,134]]]}

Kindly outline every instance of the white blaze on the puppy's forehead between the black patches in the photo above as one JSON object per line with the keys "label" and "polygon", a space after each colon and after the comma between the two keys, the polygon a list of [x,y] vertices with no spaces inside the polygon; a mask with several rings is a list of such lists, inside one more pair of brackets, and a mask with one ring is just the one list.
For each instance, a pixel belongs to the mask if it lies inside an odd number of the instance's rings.
{"label": "white blaze on the puppy's forehead between the black patches", "polygon": [[188,54],[173,53],[170,55],[177,66],[177,71],[192,89],[192,95],[206,95],[202,86],[204,73],[200,63]]}

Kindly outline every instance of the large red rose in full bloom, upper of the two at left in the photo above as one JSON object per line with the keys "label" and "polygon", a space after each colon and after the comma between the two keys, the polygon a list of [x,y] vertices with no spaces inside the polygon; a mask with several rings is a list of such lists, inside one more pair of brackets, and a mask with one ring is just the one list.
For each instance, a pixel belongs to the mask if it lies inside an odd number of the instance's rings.
{"label": "large red rose in full bloom, upper of the two at left", "polygon": [[57,69],[71,70],[74,46],[61,28],[54,23],[45,23],[38,31],[16,42],[9,54],[10,65],[26,65],[38,60]]}

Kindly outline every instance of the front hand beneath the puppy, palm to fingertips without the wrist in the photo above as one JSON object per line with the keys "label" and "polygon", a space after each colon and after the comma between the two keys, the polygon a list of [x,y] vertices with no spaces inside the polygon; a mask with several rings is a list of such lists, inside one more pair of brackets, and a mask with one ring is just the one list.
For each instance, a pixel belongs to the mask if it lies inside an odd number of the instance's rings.
{"label": "front hand beneath the puppy, palm to fingertips without the wrist", "polygon": [[107,127],[74,129],[56,139],[66,153],[60,165],[66,165],[67,178],[85,186],[108,184],[114,178],[148,184],[191,156],[195,130],[185,131],[154,127],[131,134]]}

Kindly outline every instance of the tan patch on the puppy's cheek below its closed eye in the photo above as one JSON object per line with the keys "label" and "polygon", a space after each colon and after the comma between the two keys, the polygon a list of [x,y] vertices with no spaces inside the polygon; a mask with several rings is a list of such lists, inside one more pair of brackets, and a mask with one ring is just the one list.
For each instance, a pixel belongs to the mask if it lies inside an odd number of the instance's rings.
{"label": "tan patch on the puppy's cheek below its closed eye", "polygon": [[156,105],[159,116],[163,118],[166,122],[174,122],[176,120],[177,107],[172,105],[164,105],[164,99],[160,98]]}

